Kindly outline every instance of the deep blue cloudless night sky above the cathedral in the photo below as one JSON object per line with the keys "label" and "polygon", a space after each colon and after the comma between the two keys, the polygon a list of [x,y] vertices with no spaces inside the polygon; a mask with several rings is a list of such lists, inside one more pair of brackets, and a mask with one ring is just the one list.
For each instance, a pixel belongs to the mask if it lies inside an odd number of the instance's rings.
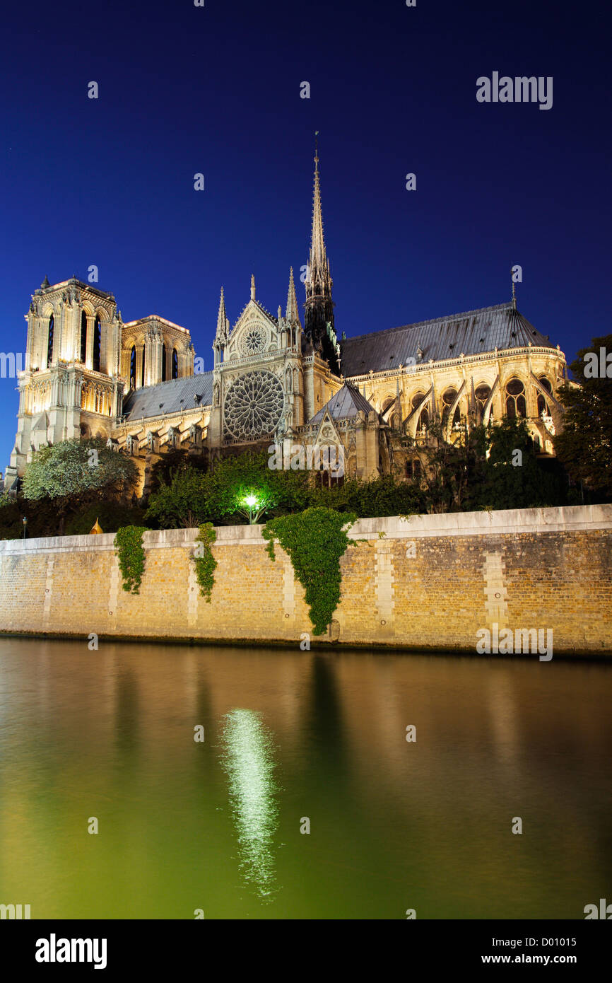
{"label": "deep blue cloudless night sky above the cathedral", "polygon": [[[11,5],[0,351],[25,351],[45,275],[94,264],[124,320],[189,328],[212,368],[221,286],[232,324],[251,273],[276,314],[306,264],[318,130],[339,336],[500,304],[520,265],[519,310],[572,361],[610,330],[602,16],[548,0]],[[494,72],[552,78],[551,108],[478,101]],[[16,386],[0,378],[2,470]]]}

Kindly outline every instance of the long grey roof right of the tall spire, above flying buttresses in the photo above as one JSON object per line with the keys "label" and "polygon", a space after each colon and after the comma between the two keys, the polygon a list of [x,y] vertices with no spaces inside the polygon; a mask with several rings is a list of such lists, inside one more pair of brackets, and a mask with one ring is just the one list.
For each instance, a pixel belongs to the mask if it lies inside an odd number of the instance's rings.
{"label": "long grey roof right of the tall spire, above flying buttresses", "polygon": [[495,348],[521,348],[529,341],[532,345],[554,347],[509,302],[346,338],[340,342],[342,372],[344,376],[362,376],[370,369],[383,372],[412,365],[410,359],[419,361],[419,347],[420,361],[439,362],[457,358],[462,352],[477,355]]}

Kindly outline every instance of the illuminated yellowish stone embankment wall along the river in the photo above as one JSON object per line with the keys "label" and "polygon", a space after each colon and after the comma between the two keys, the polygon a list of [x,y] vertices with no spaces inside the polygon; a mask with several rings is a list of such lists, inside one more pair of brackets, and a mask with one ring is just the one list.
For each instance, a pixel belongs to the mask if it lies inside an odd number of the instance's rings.
{"label": "illuminated yellowish stone embankment wall along the river", "polygon": [[[302,585],[260,527],[217,530],[211,604],[195,530],[149,532],[139,595],[113,535],[0,542],[0,630],[100,638],[282,642],[311,635]],[[384,535],[380,535],[384,534]],[[612,506],[362,519],[341,561],[329,644],[475,652],[476,632],[551,629],[553,651],[612,655]]]}

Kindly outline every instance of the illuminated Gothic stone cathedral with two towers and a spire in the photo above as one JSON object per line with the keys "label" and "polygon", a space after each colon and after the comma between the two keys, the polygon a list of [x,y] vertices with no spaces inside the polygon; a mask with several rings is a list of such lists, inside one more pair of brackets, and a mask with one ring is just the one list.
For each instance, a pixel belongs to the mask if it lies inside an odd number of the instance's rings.
{"label": "illuminated Gothic stone cathedral with two towers and a spire", "polygon": [[112,293],[45,278],[26,316],[6,489],[18,487],[39,447],[72,437],[101,436],[132,455],[144,494],[151,465],[179,449],[211,463],[273,445],[288,466],[302,447],[308,461],[343,461],[342,472],[318,464],[323,483],[341,474],[416,477],[434,421],[455,441],[476,424],[523,417],[536,450],[553,454],[565,356],[520,314],[514,294],[493,307],[337,337],[318,165],[316,153],[303,316],[293,269],[284,314],[266,311],[251,276],[232,327],[221,289],[209,372],[198,371],[186,328],[157,315],[124,322]]}

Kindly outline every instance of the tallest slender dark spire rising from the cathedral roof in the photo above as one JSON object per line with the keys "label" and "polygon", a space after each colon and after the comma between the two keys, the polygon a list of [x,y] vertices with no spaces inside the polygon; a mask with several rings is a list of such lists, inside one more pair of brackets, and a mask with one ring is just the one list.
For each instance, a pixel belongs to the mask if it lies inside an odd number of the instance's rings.
{"label": "tallest slender dark spire rising from the cathedral roof", "polygon": [[[317,131],[318,133],[318,131]],[[305,345],[312,346],[324,358],[331,371],[340,375],[334,333],[334,302],[331,298],[332,278],[325,252],[321,183],[318,170],[318,144],[314,145],[314,196],[312,202],[312,232],[310,257],[306,269]]]}

